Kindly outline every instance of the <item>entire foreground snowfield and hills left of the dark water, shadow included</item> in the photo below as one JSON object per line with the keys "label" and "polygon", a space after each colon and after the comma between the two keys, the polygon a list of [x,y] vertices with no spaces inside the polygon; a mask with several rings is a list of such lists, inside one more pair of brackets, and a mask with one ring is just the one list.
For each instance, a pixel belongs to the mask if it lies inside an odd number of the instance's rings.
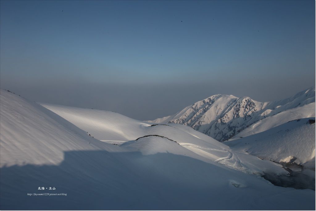
{"label": "entire foreground snowfield and hills left of the dark water, shadow included", "polygon": [[315,209],[259,176],[279,164],[190,127],[0,95],[2,210]]}

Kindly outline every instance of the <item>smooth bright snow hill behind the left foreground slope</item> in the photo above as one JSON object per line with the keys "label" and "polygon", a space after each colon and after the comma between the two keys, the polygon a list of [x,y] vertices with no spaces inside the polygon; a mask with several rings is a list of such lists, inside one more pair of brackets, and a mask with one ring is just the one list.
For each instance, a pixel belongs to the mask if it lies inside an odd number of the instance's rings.
{"label": "smooth bright snow hill behind the left foreground slope", "polygon": [[44,103],[41,105],[99,140],[121,142],[137,139],[146,135],[143,134],[143,129],[151,125],[116,112]]}

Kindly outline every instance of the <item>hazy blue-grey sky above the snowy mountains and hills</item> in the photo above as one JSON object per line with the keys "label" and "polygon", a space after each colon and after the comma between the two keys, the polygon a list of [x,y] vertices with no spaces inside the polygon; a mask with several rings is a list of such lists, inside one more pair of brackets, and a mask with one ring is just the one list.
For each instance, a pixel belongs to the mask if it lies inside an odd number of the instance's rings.
{"label": "hazy blue-grey sky above the snowy mountains and hills", "polygon": [[0,87],[149,120],[315,86],[315,1],[1,1]]}

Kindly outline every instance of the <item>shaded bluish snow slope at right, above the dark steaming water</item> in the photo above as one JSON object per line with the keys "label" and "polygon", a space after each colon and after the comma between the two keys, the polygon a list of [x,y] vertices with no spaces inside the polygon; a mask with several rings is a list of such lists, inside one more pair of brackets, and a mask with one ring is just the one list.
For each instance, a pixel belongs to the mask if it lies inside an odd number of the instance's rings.
{"label": "shaded bluish snow slope at right, above the dark steaming water", "polygon": [[[268,119],[268,118],[267,118]],[[303,118],[264,132],[223,142],[236,151],[276,161],[293,161],[315,168],[315,118]]]}

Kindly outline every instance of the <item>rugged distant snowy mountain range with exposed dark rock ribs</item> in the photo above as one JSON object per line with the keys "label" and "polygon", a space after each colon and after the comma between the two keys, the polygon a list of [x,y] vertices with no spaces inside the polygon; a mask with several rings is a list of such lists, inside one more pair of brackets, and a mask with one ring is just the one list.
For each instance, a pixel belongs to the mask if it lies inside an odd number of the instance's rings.
{"label": "rugged distant snowy mountain range with exposed dark rock ribs", "polygon": [[218,141],[237,139],[268,130],[288,121],[315,117],[315,87],[273,102],[216,94],[173,116],[147,121],[190,126]]}

